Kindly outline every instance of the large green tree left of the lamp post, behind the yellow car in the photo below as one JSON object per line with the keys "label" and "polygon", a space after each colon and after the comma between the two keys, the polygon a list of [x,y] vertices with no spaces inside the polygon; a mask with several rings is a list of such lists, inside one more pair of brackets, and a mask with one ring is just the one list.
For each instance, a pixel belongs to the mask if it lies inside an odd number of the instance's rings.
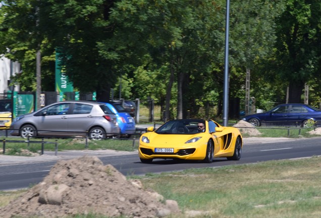
{"label": "large green tree left of the lamp post, behind the yellow car", "polygon": [[[100,44],[101,50],[115,59],[131,54],[132,60],[138,58],[136,64],[142,63],[143,54],[148,54],[150,61],[141,67],[146,72],[167,75],[158,76],[167,79],[161,80],[167,90],[167,118],[174,85],[177,85],[176,93],[173,92],[177,96],[177,117],[186,117],[183,112],[198,104],[195,98],[212,92],[213,84],[204,86],[204,80],[213,81],[209,64],[217,59],[217,48],[224,42],[223,14],[222,5],[211,1],[121,1],[111,14],[118,37],[105,40]],[[154,82],[152,85],[156,86]],[[157,98],[165,100],[163,96]]]}

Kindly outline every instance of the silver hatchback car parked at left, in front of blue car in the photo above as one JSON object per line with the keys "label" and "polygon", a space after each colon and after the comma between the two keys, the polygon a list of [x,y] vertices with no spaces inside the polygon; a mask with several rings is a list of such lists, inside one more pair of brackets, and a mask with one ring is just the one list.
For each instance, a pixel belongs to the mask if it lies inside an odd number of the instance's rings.
{"label": "silver hatchback car parked at left, in front of blue car", "polygon": [[93,139],[120,134],[116,115],[104,104],[93,101],[60,101],[17,117],[10,134],[33,136],[88,136]]}

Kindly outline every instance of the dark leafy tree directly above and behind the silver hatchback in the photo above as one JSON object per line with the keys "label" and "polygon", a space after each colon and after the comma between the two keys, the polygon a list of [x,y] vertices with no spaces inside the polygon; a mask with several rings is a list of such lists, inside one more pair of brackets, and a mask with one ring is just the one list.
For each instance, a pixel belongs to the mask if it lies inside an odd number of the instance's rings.
{"label": "dark leafy tree directly above and behind the silver hatchback", "polygon": [[66,75],[82,92],[97,92],[97,100],[108,101],[116,82],[114,62],[102,57],[97,44],[113,37],[109,16],[114,1],[48,0],[44,33],[61,54]]}

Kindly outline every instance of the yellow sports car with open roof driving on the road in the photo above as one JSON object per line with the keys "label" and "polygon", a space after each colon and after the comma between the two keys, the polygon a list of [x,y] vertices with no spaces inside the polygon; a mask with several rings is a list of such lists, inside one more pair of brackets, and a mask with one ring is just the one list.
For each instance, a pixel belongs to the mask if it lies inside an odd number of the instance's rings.
{"label": "yellow sports car with open roof driving on the road", "polygon": [[139,158],[148,163],[153,159],[202,160],[210,163],[215,157],[239,160],[242,135],[235,127],[223,127],[215,121],[171,120],[158,127],[147,128],[139,139]]}

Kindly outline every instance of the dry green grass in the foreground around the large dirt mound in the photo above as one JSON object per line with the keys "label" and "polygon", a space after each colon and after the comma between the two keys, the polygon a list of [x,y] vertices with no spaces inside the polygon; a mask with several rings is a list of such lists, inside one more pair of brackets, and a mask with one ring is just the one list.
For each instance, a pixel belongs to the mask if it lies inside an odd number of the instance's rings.
{"label": "dry green grass in the foreground around the large dirt mound", "polygon": [[[321,157],[274,160],[128,178],[140,179],[145,189],[176,200],[184,212],[207,212],[199,218],[321,217],[320,162]],[[0,206],[23,192],[0,192]],[[169,216],[174,217],[186,214]]]}

